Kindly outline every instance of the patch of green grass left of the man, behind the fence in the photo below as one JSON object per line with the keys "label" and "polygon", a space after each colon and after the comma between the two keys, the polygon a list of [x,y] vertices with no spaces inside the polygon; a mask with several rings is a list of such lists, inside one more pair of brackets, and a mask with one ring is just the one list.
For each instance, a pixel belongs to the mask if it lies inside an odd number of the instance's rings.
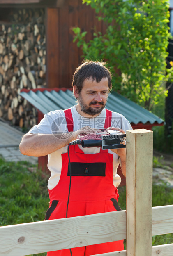
{"label": "patch of green grass left of the man, behind the fence", "polygon": [[43,178],[38,170],[31,172],[32,167],[28,162],[0,159],[0,226],[44,220],[49,206],[48,177]]}

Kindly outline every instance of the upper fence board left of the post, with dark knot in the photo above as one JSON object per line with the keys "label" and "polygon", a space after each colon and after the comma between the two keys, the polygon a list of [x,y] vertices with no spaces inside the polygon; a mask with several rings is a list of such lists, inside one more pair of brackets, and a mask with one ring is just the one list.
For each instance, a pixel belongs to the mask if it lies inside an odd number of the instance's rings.
{"label": "upper fence board left of the post, with dark knot", "polygon": [[0,227],[0,255],[22,256],[122,240],[125,211]]}

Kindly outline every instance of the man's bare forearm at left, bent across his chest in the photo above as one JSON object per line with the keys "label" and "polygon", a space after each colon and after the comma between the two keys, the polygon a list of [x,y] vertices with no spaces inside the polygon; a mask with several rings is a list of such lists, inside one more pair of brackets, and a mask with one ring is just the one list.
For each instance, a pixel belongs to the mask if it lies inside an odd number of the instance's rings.
{"label": "man's bare forearm at left, bent across his chest", "polygon": [[65,147],[73,140],[72,132],[59,134],[26,134],[19,149],[27,156],[46,156]]}

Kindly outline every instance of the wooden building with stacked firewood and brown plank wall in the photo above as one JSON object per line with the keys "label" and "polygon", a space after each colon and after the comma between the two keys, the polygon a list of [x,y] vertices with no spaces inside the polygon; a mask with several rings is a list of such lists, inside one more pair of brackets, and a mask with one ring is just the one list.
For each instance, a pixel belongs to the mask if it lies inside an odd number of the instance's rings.
{"label": "wooden building with stacked firewood and brown plank wall", "polygon": [[82,62],[72,27],[104,32],[82,0],[0,0],[0,117],[29,128],[37,113],[21,89],[70,88]]}

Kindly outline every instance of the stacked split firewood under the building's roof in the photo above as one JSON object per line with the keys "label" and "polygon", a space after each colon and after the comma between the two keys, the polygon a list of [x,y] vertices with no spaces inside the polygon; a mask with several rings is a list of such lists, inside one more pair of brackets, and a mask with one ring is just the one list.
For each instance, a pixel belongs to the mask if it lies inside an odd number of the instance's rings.
{"label": "stacked split firewood under the building's roof", "polygon": [[0,21],[0,117],[29,128],[37,113],[20,95],[46,86],[44,9],[11,10]]}

